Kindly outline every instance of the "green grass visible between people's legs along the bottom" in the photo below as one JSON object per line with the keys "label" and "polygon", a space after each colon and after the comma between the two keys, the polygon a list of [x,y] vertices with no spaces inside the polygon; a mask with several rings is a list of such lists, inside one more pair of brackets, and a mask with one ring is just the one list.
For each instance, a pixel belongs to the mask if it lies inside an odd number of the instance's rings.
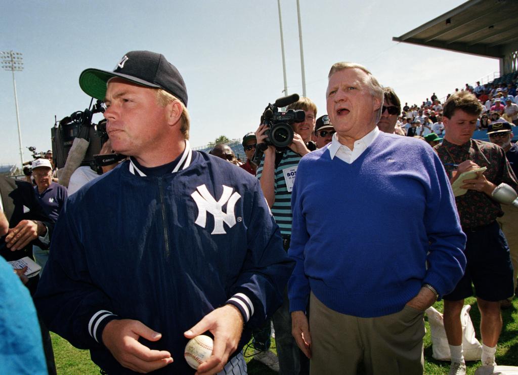
{"label": "green grass visible between people's legs along the bottom", "polygon": [[[473,321],[477,333],[477,339],[480,341],[480,314],[477,303],[474,298],[466,300],[466,304],[470,304],[470,316]],[[513,300],[513,309],[502,310],[503,329],[498,342],[496,352],[496,363],[499,365],[518,365],[518,299]],[[434,307],[442,312],[442,302],[437,302]],[[425,356],[425,374],[445,374],[449,371],[449,362],[439,362],[431,357],[431,339],[430,327],[426,321],[426,336],[424,338],[424,356]],[[66,340],[61,337],[52,335],[52,344],[54,345],[54,356],[56,361],[57,373],[59,375],[98,375],[99,368],[90,360],[88,351],[79,350],[72,347]],[[272,341],[272,350],[275,352],[275,341]],[[250,355],[252,350],[249,348],[245,356]],[[251,375],[269,375],[275,374],[268,367],[264,366],[252,359],[247,358],[248,373]],[[473,374],[480,366],[479,362],[468,362],[468,374]]]}

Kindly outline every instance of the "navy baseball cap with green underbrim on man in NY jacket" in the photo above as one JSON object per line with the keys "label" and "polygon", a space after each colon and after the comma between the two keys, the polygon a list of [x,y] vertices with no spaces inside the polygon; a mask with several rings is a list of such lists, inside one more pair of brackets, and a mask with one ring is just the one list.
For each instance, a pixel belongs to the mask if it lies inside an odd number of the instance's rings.
{"label": "navy baseball cap with green underbrim on man in NY jacket", "polygon": [[178,69],[164,55],[150,51],[126,53],[113,71],[85,69],[79,86],[88,95],[104,100],[110,78],[119,77],[153,89],[163,89],[187,106],[187,89]]}

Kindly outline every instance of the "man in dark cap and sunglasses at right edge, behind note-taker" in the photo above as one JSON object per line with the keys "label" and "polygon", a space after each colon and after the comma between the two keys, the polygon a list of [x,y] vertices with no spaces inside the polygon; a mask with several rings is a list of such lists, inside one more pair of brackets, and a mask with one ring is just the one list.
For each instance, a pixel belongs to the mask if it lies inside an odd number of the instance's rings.
{"label": "man in dark cap and sunglasses at right edge, behind note-taker", "polygon": [[[508,122],[496,122],[487,127],[487,135],[491,143],[500,146],[506,153],[507,160],[511,164],[511,169],[515,176],[518,176],[518,145],[512,143],[513,138],[512,126]],[[511,252],[511,263],[513,265],[513,283],[516,291],[516,278],[518,277],[518,230],[516,223],[518,223],[518,211],[508,205],[502,205],[503,216],[497,218],[496,221],[500,224],[503,234],[506,235],[509,251]],[[516,294],[516,292],[514,293]],[[503,299],[500,306],[505,308],[511,307],[510,299]]]}

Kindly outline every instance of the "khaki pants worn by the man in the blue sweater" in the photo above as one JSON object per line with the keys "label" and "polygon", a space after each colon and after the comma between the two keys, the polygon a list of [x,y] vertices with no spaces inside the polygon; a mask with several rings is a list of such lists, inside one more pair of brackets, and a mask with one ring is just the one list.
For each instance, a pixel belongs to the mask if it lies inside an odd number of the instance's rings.
{"label": "khaki pants worn by the man in the blue sweater", "polygon": [[357,318],[327,308],[310,297],[312,375],[422,374],[423,312],[411,307],[378,318]]}

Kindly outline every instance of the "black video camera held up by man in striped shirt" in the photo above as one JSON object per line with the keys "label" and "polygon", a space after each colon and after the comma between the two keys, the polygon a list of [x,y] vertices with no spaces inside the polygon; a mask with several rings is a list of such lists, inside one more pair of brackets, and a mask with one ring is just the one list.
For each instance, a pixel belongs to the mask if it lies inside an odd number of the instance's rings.
{"label": "black video camera held up by man in striped shirt", "polygon": [[298,94],[278,98],[274,104],[268,104],[261,115],[261,124],[268,126],[265,131],[267,138],[259,143],[255,149],[252,163],[259,165],[264,151],[268,146],[274,146],[278,151],[285,150],[293,142],[293,124],[303,122],[306,113],[303,110],[289,109],[286,112],[279,112],[279,107],[285,107],[297,102]]}

